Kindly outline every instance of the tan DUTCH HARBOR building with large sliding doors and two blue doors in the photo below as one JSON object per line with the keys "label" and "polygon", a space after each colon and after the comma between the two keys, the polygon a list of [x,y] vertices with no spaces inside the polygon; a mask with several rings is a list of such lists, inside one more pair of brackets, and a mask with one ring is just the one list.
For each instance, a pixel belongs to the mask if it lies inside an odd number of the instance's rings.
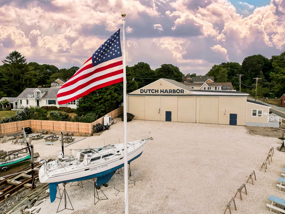
{"label": "tan DUTCH HARBOR building with large sliding doors and two blue doors", "polygon": [[237,91],[194,90],[162,78],[129,93],[127,111],[139,120],[244,126],[247,95]]}

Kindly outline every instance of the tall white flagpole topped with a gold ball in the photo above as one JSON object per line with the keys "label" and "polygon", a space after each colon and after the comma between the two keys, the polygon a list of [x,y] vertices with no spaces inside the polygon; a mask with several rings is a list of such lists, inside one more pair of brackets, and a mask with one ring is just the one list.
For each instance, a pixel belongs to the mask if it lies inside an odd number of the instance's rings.
{"label": "tall white flagpole topped with a gold ball", "polygon": [[128,199],[128,144],[127,144],[127,79],[126,79],[126,58],[125,58],[125,13],[121,14],[123,17],[123,103],[124,103],[124,178],[125,178],[125,214],[129,213],[129,199]]}

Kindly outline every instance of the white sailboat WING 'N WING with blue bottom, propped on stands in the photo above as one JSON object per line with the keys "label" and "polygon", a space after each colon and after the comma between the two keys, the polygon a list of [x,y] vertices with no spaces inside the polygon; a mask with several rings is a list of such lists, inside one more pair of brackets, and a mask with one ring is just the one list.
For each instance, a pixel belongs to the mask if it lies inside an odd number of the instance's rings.
{"label": "white sailboat WING 'N WING with blue bottom, propped on stands", "polygon": [[[128,143],[128,163],[143,153],[148,140]],[[124,166],[124,144],[114,144],[97,148],[80,149],[74,156],[58,156],[58,160],[46,162],[39,170],[41,183],[49,183],[50,202],[56,198],[59,183],[97,178],[97,185],[107,183],[115,171]]]}

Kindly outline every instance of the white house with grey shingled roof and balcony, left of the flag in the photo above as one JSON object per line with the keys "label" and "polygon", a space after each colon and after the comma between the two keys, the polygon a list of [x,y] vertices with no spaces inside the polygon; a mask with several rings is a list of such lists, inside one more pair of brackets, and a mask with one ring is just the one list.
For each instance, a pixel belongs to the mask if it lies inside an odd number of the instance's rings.
{"label": "white house with grey shingled roof and balcony, left of the flag", "polygon": [[30,106],[57,106],[76,108],[78,100],[64,105],[58,105],[57,92],[60,88],[26,88],[14,101],[14,109],[21,109]]}

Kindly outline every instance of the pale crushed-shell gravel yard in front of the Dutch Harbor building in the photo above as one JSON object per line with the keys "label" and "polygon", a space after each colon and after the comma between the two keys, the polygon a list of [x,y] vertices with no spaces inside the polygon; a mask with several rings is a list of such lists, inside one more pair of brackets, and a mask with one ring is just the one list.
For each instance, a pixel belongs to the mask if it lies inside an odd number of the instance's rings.
{"label": "pale crushed-shell gravel yard in front of the Dutch Harbor building", "polygon": [[[131,163],[131,179],[135,184],[129,181],[129,213],[223,213],[252,170],[255,170],[257,181],[254,180],[254,185],[246,184],[248,195],[243,190],[242,201],[237,195],[237,211],[232,210],[233,213],[270,213],[266,207],[270,195],[285,199],[284,191],[276,187],[285,157],[283,152],[276,150],[281,143],[278,138],[249,134],[244,126],[128,122],[128,141],[142,132],[151,132],[154,140],[148,141],[141,157]],[[117,119],[110,130],[71,144],[65,151],[114,144],[119,140],[123,142],[123,122]],[[259,171],[272,146],[273,162],[267,165],[266,173],[264,169]],[[1,144],[4,150],[17,148],[21,146]],[[40,156],[58,155],[61,147],[60,144],[34,143],[34,151]],[[123,182],[123,177],[118,177]],[[108,200],[99,201],[95,206],[93,184],[84,181],[83,189],[67,184],[74,211],[60,213],[123,213],[124,192],[115,196],[114,178],[108,184],[108,187],[101,187]],[[123,190],[123,185],[120,187]],[[54,203],[44,200],[30,210],[42,207],[40,214],[56,213],[59,199]]]}

